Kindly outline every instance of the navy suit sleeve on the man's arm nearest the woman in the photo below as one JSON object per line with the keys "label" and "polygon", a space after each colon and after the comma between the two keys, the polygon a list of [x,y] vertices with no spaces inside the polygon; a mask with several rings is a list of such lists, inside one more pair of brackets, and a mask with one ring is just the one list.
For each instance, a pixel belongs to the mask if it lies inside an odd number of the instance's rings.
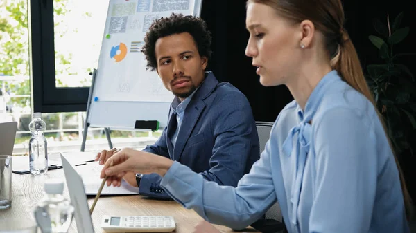
{"label": "navy suit sleeve on the man's arm nearest the woman", "polygon": [[[221,102],[220,114],[211,118],[215,142],[209,160],[210,169],[201,175],[220,185],[235,187],[247,172],[247,163],[254,162],[250,161],[254,160],[250,158],[252,153],[257,153],[256,160],[260,157],[259,137],[257,131],[253,131],[254,118],[245,96],[242,93],[229,93],[222,99],[230,101]],[[254,151],[253,144],[257,145]]]}

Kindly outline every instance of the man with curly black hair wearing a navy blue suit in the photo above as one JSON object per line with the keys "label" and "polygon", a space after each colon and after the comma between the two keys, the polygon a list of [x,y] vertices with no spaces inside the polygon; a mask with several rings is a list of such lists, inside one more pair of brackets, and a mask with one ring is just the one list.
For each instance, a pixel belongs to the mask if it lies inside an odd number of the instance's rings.
{"label": "man with curly black hair wearing a navy blue suit", "polygon": [[[175,95],[168,126],[144,149],[187,165],[205,179],[236,186],[259,159],[259,138],[250,104],[237,88],[218,83],[206,71],[211,56],[211,35],[200,18],[171,15],[155,21],[142,48],[147,66],[157,71]],[[102,151],[101,164],[115,149]],[[126,174],[139,194],[170,198],[159,187],[157,174]]]}

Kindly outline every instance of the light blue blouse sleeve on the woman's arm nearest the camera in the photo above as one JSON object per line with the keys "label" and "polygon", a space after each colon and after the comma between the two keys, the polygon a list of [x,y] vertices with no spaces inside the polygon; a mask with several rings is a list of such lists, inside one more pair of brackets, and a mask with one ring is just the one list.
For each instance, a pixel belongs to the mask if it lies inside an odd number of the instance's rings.
{"label": "light blue blouse sleeve on the woman's arm nearest the camera", "polygon": [[309,232],[370,232],[377,184],[372,124],[351,109],[333,109],[314,123],[316,177]]}

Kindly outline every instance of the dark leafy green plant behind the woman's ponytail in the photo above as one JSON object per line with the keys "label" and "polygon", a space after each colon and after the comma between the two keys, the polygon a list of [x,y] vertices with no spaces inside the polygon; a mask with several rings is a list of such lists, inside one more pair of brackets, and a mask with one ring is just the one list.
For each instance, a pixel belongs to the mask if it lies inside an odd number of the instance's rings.
{"label": "dark leafy green plant behind the woman's ponytail", "polygon": [[[410,178],[415,176],[411,163],[416,161],[416,86],[415,76],[403,62],[416,53],[395,53],[395,46],[408,36],[410,30],[408,26],[401,27],[403,17],[401,12],[392,24],[388,15],[386,24],[374,19],[373,26],[379,35],[370,35],[369,39],[378,48],[383,62],[368,65],[365,75],[405,178],[406,175]],[[406,180],[408,186],[412,186],[410,179]],[[408,188],[411,193],[412,187]],[[413,200],[416,200],[416,190],[414,192]]]}

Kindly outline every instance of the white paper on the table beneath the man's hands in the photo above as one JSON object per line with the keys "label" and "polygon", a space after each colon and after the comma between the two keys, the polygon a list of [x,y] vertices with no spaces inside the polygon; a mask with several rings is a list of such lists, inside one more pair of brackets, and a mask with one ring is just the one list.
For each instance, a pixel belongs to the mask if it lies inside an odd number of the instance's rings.
{"label": "white paper on the table beneath the man's hands", "polygon": [[[85,194],[87,195],[96,195],[98,189],[100,189],[101,182],[103,181],[100,178],[101,169],[103,165],[100,165],[98,162],[87,162],[85,165],[80,165],[76,167],[76,171],[83,178]],[[138,187],[132,187],[124,180],[121,182],[121,187],[113,187],[104,185],[101,195],[125,195],[125,194],[139,194]]]}

